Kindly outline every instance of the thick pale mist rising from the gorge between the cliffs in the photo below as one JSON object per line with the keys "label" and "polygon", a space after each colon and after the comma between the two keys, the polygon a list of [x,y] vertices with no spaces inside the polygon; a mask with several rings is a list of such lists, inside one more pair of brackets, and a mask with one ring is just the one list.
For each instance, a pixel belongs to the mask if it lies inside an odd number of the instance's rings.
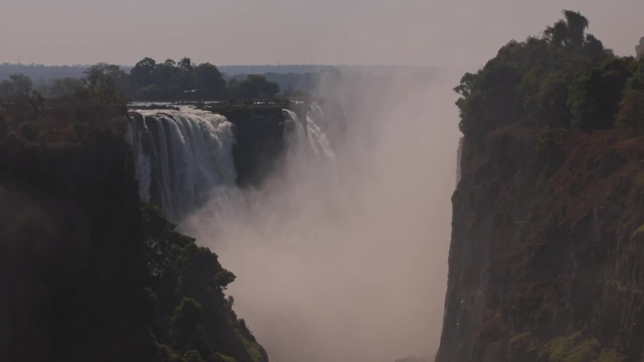
{"label": "thick pale mist rising from the gorge between the cliffs", "polygon": [[[260,189],[216,187],[181,229],[238,277],[235,309],[273,361],[431,356],[451,232],[456,77],[347,77],[346,130],[297,122]],[[304,137],[306,136],[306,137]],[[332,145],[332,146],[331,146]]]}

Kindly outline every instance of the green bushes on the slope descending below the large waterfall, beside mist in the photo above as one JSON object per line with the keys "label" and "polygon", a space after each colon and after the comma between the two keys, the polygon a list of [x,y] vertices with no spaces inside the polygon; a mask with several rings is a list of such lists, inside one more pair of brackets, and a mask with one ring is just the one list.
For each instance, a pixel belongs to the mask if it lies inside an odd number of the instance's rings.
{"label": "green bushes on the slope descending below the large waterfall, beside mist", "polygon": [[223,291],[235,276],[223,269],[216,254],[175,231],[155,205],[142,204],[144,252],[156,295],[153,334],[176,354],[198,352],[204,361],[232,358],[265,361],[243,319],[232,311]]}

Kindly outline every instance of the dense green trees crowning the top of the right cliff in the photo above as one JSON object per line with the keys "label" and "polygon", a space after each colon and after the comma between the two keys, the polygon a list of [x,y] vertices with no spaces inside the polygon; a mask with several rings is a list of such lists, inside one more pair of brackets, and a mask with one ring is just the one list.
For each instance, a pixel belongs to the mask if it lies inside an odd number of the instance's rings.
{"label": "dense green trees crowning the top of the right cliff", "polygon": [[616,57],[578,12],[540,37],[511,41],[455,87],[460,130],[480,137],[507,124],[565,129],[644,127],[644,60]]}

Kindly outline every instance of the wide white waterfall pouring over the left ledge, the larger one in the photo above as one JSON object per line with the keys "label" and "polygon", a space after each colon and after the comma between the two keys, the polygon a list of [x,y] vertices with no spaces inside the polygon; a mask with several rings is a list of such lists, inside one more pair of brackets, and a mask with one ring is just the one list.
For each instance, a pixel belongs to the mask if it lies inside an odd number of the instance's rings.
{"label": "wide white waterfall pouring over the left ledge, the larger one", "polygon": [[177,222],[204,204],[216,186],[234,184],[232,124],[222,115],[184,107],[137,111],[126,139],[135,153],[139,195]]}

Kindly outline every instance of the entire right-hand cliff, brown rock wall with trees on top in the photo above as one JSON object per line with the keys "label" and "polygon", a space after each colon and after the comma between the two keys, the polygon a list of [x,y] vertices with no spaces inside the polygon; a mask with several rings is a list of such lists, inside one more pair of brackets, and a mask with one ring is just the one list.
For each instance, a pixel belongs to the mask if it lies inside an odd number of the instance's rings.
{"label": "entire right-hand cliff, brown rock wall with trees on top", "polygon": [[437,361],[644,359],[644,62],[563,14],[455,88]]}

